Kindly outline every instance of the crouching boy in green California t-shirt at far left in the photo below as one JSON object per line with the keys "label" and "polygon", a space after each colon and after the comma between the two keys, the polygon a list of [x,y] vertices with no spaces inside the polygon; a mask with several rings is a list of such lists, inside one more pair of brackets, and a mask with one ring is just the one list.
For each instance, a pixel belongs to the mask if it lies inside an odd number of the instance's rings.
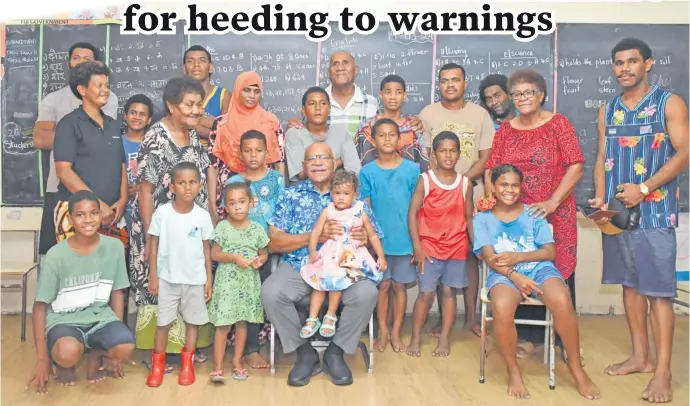
{"label": "crouching boy in green California t-shirt at far left", "polygon": [[[74,235],[46,254],[33,307],[36,367],[29,380],[36,392],[47,392],[51,360],[60,385],[74,384],[74,369],[86,349],[87,379],[105,378],[101,357],[122,377],[120,361],[134,351],[134,335],[122,323],[124,289],[129,288],[125,253],[119,240],[100,235],[98,196],[88,190],[68,200]],[[110,305],[108,305],[110,303]]]}

